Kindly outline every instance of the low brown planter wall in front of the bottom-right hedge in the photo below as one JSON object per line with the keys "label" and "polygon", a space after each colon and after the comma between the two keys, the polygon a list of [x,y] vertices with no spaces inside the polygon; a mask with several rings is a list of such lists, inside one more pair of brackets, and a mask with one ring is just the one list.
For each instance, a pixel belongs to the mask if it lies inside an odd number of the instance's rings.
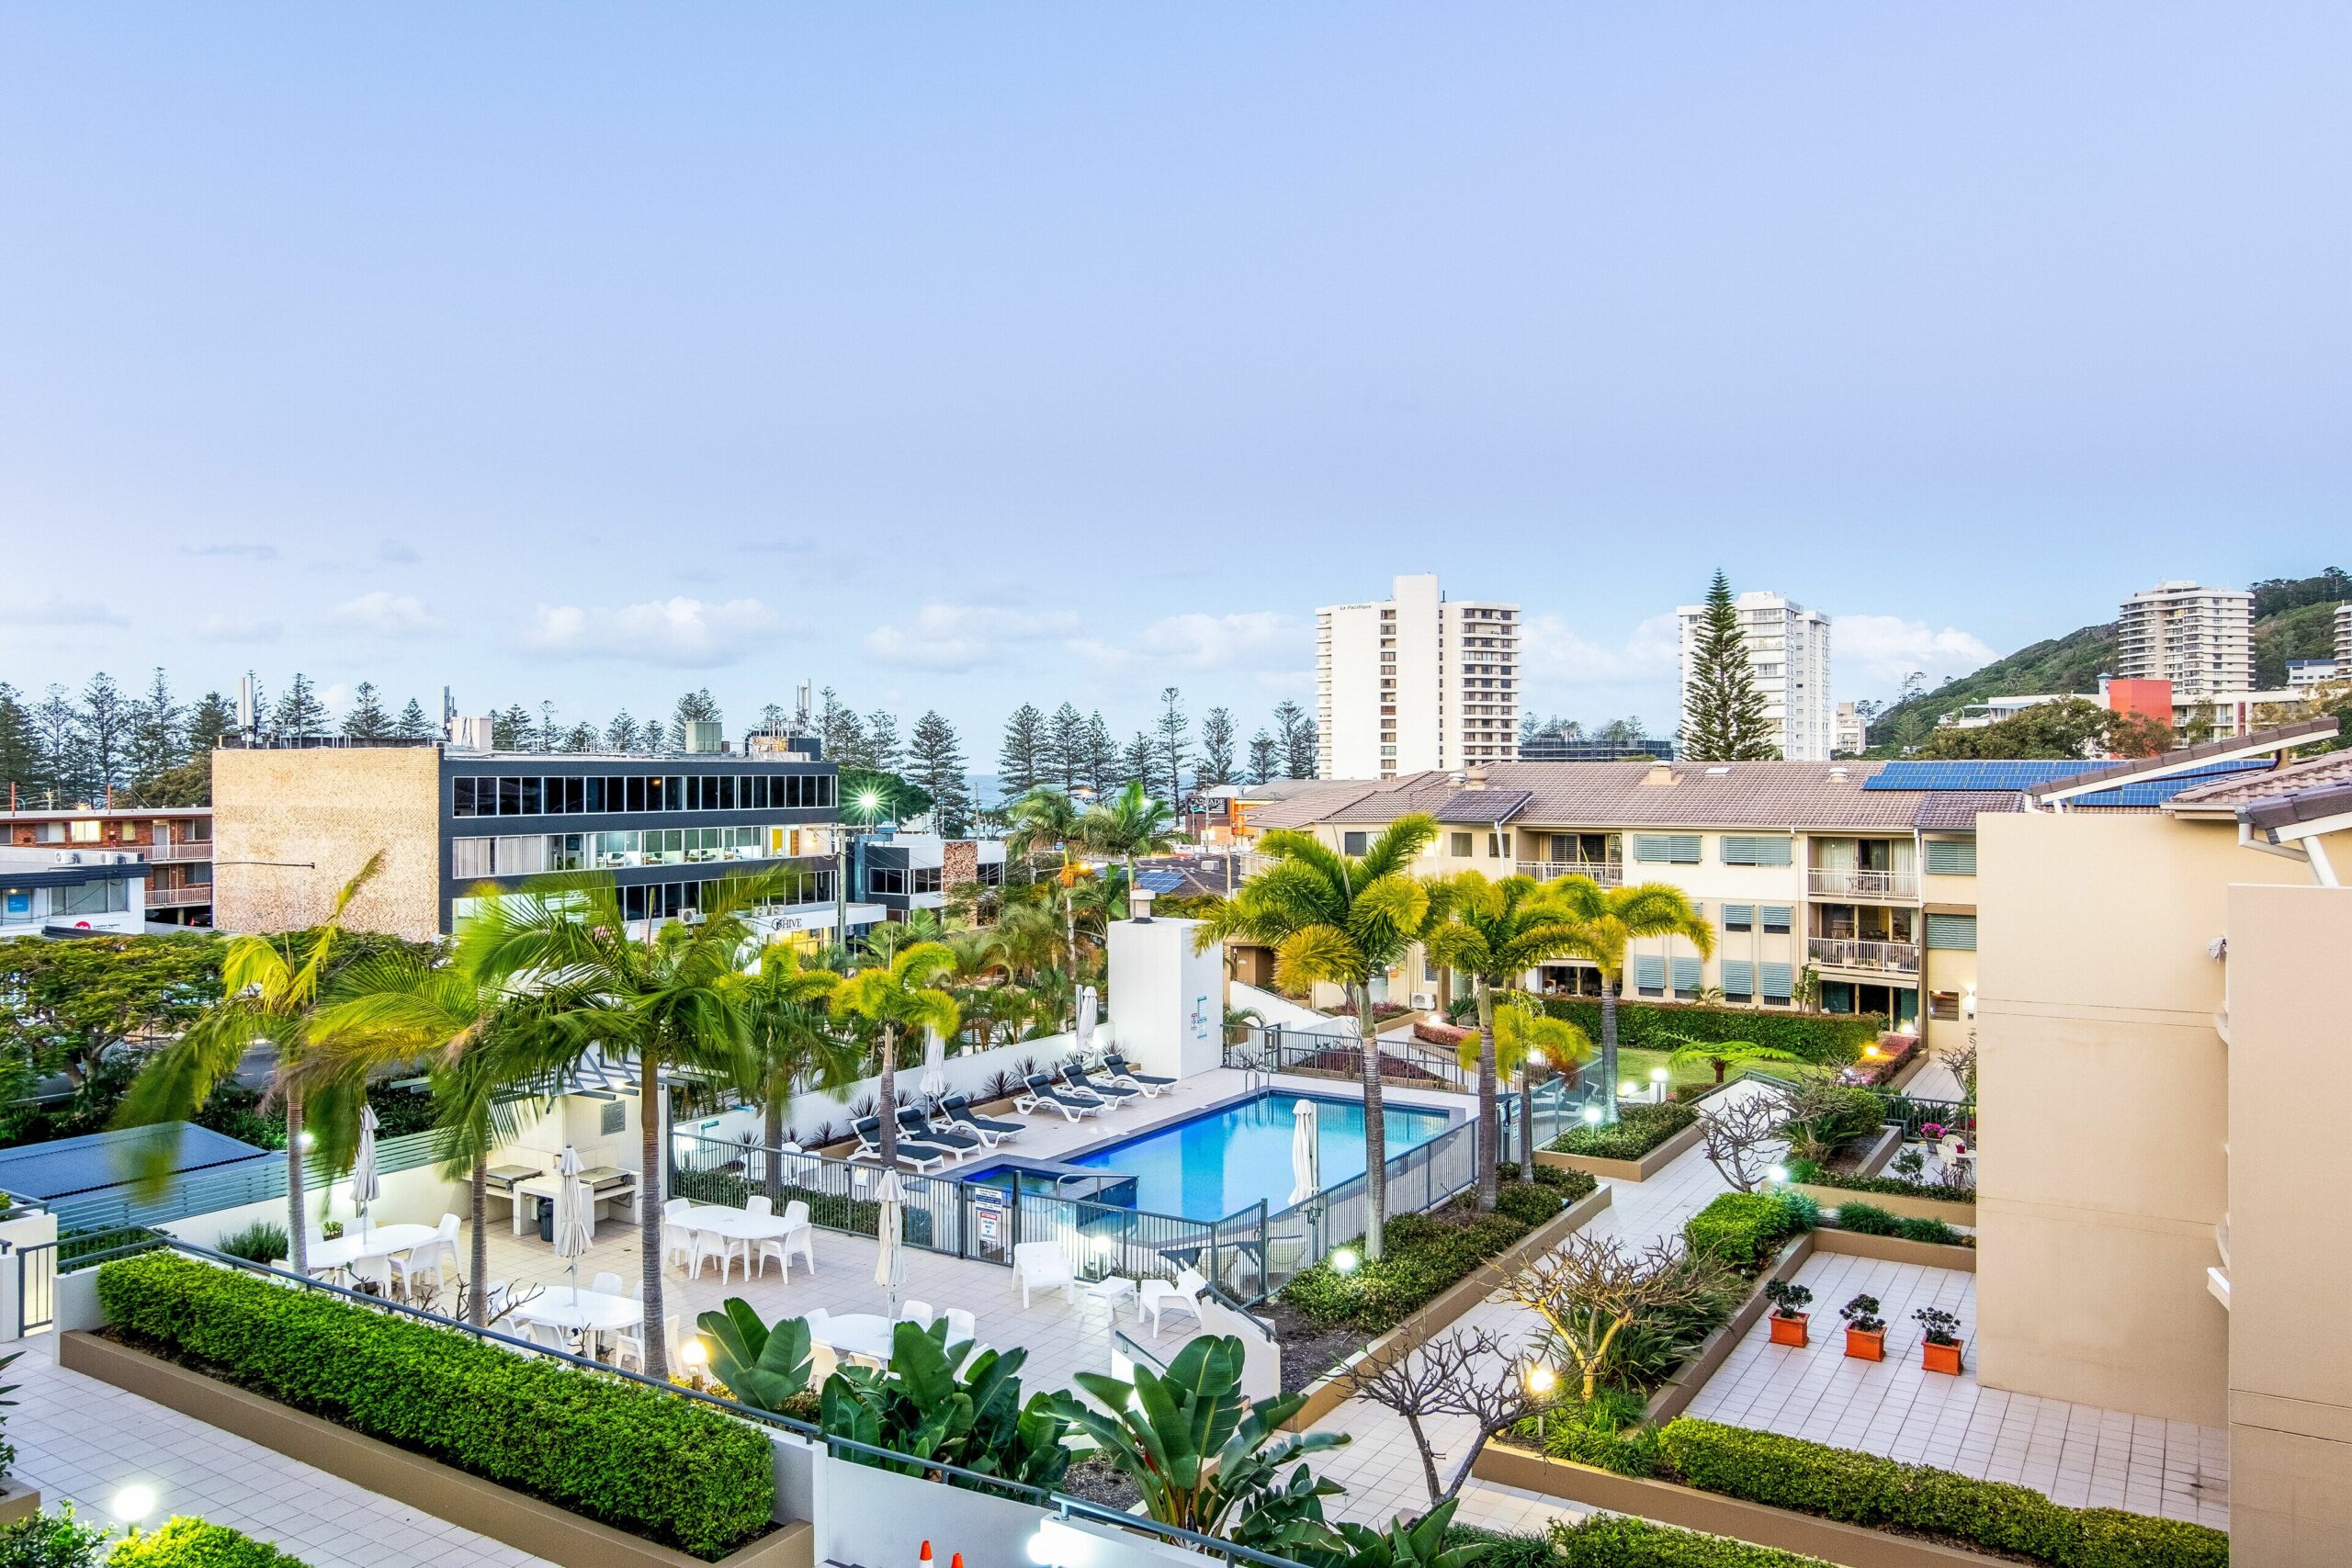
{"label": "low brown planter wall in front of the bottom-right hedge", "polygon": [[1470,1474],[1479,1481],[1564,1497],[1588,1509],[1609,1509],[1611,1514],[1632,1514],[1635,1519],[1651,1519],[1684,1530],[1729,1535],[1759,1547],[1778,1547],[1780,1552],[1844,1563],[1846,1568],[1955,1568],[1959,1563],[2016,1561],[1912,1535],[1867,1530],[1835,1519],[1816,1519],[1813,1514],[1792,1514],[1764,1507],[1762,1502],[1740,1502],[1738,1497],[1703,1493],[1675,1481],[1618,1476],[1590,1465],[1550,1460],[1503,1441],[1486,1443]]}

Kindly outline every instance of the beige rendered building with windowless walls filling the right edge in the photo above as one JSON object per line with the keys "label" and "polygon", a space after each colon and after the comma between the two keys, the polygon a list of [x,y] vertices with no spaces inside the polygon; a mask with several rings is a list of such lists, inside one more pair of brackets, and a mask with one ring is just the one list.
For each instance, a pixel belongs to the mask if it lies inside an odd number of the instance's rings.
{"label": "beige rendered building with windowless walls filling the right edge", "polygon": [[1985,1387],[2230,1432],[2239,1568],[2352,1563],[2352,752],[1978,844]]}

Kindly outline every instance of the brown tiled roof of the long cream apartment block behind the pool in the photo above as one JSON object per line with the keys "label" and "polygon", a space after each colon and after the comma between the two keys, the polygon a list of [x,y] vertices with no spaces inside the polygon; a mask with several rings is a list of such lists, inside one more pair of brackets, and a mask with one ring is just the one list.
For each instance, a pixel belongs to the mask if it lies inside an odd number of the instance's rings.
{"label": "brown tiled roof of the long cream apartment block behind the pool", "polygon": [[[1395,783],[1334,783],[1256,811],[1263,827],[1336,823],[1378,827],[1409,811],[1442,823],[1491,823],[1484,795],[1526,795],[1508,820],[1524,827],[1971,827],[1980,811],[2016,811],[2016,795],[1865,790],[1877,762],[1503,762],[1486,790],[1446,773]],[[1922,820],[1922,816],[1933,820]]]}

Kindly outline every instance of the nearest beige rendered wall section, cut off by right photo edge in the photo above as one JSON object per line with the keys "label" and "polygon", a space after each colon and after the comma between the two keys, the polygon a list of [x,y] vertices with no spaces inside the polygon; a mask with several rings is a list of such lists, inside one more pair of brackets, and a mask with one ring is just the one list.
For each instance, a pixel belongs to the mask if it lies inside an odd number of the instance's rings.
{"label": "nearest beige rendered wall section, cut off by right photo edge", "polygon": [[[2340,835],[2338,835],[2340,837]],[[2279,863],[2293,875],[2291,863]],[[2230,1561],[2352,1563],[2352,889],[2230,889]]]}

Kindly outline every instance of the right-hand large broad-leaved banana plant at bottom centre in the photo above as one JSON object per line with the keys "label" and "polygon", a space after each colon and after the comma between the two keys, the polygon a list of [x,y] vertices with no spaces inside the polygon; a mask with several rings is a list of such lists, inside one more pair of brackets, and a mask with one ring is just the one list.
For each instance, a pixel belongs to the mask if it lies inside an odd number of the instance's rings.
{"label": "right-hand large broad-leaved banana plant at bottom centre", "polygon": [[1136,1366],[1134,1385],[1077,1373],[1101,1406],[1061,1394],[1061,1413],[1143,1493],[1143,1512],[1200,1535],[1296,1556],[1338,1552],[1322,1500],[1341,1488],[1294,1462],[1348,1439],[1336,1432],[1279,1432],[1303,1394],[1242,1399],[1242,1342],[1197,1335],[1167,1373]]}

